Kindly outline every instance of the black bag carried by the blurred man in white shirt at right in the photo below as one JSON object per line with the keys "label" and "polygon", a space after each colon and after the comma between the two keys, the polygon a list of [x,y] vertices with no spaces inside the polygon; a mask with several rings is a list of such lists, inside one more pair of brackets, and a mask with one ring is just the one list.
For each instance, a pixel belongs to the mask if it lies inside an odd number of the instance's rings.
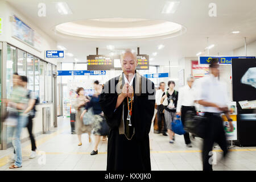
{"label": "black bag carried by the blurred man in white shirt at right", "polygon": [[196,137],[205,138],[207,117],[196,115],[193,111],[187,111],[184,121],[185,131]]}

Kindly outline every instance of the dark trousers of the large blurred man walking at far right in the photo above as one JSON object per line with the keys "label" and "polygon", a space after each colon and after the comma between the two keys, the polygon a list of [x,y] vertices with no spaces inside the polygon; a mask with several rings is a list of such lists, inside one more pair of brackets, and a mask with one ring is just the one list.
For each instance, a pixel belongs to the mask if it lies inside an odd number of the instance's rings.
{"label": "dark trousers of the large blurred man walking at far right", "polygon": [[210,164],[209,159],[212,157],[210,151],[212,151],[214,142],[218,143],[221,147],[221,150],[224,152],[224,157],[228,153],[228,144],[226,142],[226,135],[220,114],[205,113],[205,117],[208,119],[206,123],[207,132],[203,142],[203,170],[212,171],[212,164]]}

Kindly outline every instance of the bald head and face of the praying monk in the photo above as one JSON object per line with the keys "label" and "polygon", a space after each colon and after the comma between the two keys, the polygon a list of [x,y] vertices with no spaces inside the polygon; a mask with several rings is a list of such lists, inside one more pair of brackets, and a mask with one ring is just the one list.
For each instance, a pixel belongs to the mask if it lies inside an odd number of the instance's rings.
{"label": "bald head and face of the praying monk", "polygon": [[125,73],[126,76],[128,76],[129,74],[134,74],[137,64],[137,57],[135,57],[133,53],[125,53],[125,55],[123,56],[123,60],[121,61],[123,73]]}

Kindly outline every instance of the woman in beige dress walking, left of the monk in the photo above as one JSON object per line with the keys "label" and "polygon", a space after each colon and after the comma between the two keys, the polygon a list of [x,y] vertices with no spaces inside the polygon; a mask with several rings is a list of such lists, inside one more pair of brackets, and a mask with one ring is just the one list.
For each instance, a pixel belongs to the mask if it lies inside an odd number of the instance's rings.
{"label": "woman in beige dress walking, left of the monk", "polygon": [[92,126],[84,125],[84,122],[83,122],[82,111],[83,111],[83,108],[86,106],[86,104],[88,104],[88,102],[89,102],[88,98],[86,98],[86,96],[84,95],[84,88],[82,88],[82,87],[77,88],[76,93],[78,96],[77,96],[75,102],[73,102],[73,107],[76,109],[75,129],[76,129],[77,137],[79,139],[78,145],[81,146],[83,133],[88,133],[89,142],[91,142],[90,133],[92,131]]}

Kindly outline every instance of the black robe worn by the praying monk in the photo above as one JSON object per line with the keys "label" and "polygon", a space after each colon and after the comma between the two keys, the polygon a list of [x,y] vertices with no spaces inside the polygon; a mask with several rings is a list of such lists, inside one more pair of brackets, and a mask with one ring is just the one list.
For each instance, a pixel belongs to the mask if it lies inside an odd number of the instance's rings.
{"label": "black robe worn by the praying monk", "polygon": [[[121,81],[120,81],[121,77]],[[112,78],[104,85],[100,96],[100,105],[104,111],[104,116],[110,127],[108,137],[108,171],[150,171],[150,142],[148,134],[150,132],[152,117],[155,110],[155,86],[154,83],[147,78],[135,74],[133,80],[133,89],[135,83],[139,84],[139,89],[136,87],[134,93],[134,101],[131,116],[130,131],[134,131],[133,137],[129,140],[122,133],[121,125],[123,120],[127,118],[127,98],[123,100],[117,109],[118,94],[122,92],[122,85],[125,83],[123,75]],[[122,84],[121,84],[122,83]],[[146,83],[146,84],[145,84]],[[119,85],[119,93],[117,88]],[[137,85],[138,85],[137,84]],[[114,88],[113,88],[114,87]]]}

